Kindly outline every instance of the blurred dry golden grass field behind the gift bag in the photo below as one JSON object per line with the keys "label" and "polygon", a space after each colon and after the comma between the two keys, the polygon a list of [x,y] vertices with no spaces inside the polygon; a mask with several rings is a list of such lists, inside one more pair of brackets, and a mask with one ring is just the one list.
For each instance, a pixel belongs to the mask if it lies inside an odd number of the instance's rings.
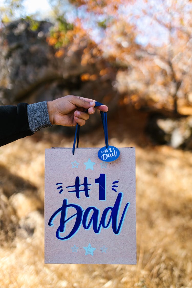
{"label": "blurred dry golden grass field behind the gift bag", "polygon": [[[0,147],[0,287],[192,287],[192,153],[153,147],[145,120],[119,108],[108,121],[111,145],[136,147],[137,265],[44,264],[44,149],[73,137],[44,130]],[[104,146],[102,127],[79,144]]]}

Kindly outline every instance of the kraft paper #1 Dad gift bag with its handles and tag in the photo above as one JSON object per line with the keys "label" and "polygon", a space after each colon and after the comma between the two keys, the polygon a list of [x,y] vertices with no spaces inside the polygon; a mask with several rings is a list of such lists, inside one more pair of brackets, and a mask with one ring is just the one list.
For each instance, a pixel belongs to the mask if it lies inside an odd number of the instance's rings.
{"label": "kraft paper #1 Dad gift bag with its handles and tag", "polygon": [[135,148],[102,120],[103,148],[45,149],[45,263],[136,264]]}

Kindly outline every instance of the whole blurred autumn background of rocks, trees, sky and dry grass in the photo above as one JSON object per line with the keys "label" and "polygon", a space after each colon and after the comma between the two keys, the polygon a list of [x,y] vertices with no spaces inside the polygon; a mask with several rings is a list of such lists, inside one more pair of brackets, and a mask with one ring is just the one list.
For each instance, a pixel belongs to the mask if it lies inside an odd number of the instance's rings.
{"label": "whole blurred autumn background of rocks, trees, sky and dry grass", "polygon": [[[0,0],[0,105],[64,95],[109,107],[136,147],[137,265],[44,264],[44,149],[53,127],[0,147],[1,287],[192,287],[192,2]],[[79,147],[103,147],[100,114]]]}

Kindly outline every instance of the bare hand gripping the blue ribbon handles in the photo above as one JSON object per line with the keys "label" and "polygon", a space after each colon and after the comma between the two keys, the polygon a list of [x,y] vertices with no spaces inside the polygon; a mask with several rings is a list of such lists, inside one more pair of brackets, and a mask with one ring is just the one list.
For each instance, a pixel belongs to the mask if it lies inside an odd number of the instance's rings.
{"label": "bare hand gripping the blue ribbon handles", "polygon": [[[95,112],[95,100],[67,95],[53,101],[47,101],[47,109],[51,124],[62,126],[75,126],[77,123],[80,126],[85,124],[89,119],[89,114]],[[84,111],[88,109],[88,113]],[[100,111],[107,112],[108,107],[101,105],[96,107]]]}

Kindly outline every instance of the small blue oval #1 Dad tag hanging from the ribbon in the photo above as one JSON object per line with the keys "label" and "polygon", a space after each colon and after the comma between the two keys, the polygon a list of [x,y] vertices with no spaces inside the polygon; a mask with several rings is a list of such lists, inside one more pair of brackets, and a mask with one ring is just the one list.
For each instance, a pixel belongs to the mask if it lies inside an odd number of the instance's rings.
{"label": "small blue oval #1 Dad tag hanging from the ribbon", "polygon": [[108,146],[107,148],[104,146],[98,151],[99,159],[104,162],[115,161],[119,155],[119,149],[117,149],[115,146]]}

